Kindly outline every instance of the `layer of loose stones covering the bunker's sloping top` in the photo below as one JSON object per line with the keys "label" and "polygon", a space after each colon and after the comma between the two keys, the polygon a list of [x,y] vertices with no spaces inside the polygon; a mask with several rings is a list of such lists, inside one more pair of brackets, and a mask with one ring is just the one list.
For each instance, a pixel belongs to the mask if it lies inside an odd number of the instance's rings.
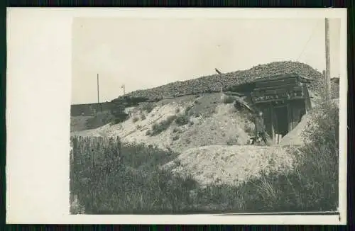
{"label": "layer of loose stones covering the bunker's sloping top", "polygon": [[[258,66],[251,67],[251,69],[247,70],[239,70],[224,74],[212,74],[187,81],[175,81],[152,89],[132,91],[129,94],[126,94],[126,96],[142,97],[148,98],[151,101],[158,101],[162,98],[218,92],[221,86],[226,89],[228,86],[244,84],[264,76],[292,72],[315,80],[312,82],[310,89],[320,93],[322,89],[320,82],[324,79],[320,72],[301,62],[284,61],[259,64]],[[332,86],[333,88],[337,88],[336,84],[332,84]],[[119,98],[121,98],[121,96]],[[119,98],[116,98],[116,100],[119,100]]]}

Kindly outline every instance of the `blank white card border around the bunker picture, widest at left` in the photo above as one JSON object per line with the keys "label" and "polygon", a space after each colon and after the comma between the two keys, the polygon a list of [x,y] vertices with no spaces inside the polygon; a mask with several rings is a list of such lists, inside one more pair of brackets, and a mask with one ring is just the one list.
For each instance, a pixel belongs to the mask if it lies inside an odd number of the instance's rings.
{"label": "blank white card border around the bunker picture, widest at left", "polygon": [[[338,215],[70,215],[72,19],[341,18]],[[17,224],[346,224],[346,9],[8,8],[6,222]]]}

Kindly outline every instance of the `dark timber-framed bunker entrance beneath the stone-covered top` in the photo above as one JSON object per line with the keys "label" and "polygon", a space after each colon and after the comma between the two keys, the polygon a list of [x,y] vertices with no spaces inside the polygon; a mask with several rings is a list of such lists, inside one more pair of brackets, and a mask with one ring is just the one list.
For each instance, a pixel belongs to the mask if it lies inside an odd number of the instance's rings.
{"label": "dark timber-framed bunker entrance beneath the stone-covered top", "polygon": [[266,132],[277,144],[310,111],[307,89],[310,82],[311,79],[296,73],[277,74],[232,86],[229,90],[244,94],[253,108],[263,112]]}

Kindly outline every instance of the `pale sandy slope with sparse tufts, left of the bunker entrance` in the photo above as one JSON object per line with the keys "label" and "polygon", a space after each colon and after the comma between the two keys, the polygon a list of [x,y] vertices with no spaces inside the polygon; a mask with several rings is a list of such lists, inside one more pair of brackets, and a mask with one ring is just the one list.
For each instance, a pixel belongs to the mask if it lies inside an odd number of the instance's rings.
{"label": "pale sandy slope with sparse tufts, left of the bunker entrance", "polygon": [[[116,125],[105,125],[93,130],[73,132],[72,135],[114,136],[122,142],[144,142],[183,152],[192,147],[205,145],[244,145],[249,140],[245,129],[253,128],[253,123],[236,112],[233,104],[220,103],[220,94],[185,96],[164,100],[147,113],[141,108],[130,108],[131,118]],[[169,116],[179,116],[191,107],[186,125],[172,123],[162,133],[147,135],[153,123],[160,123]],[[137,120],[138,119],[138,120]]]}

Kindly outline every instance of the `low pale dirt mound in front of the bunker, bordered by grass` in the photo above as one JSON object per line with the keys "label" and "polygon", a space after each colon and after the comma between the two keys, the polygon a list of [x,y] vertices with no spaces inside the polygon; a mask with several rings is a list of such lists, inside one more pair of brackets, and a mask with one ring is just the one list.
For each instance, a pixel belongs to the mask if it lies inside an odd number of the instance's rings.
{"label": "low pale dirt mound in front of the bunker, bordered by grass", "polygon": [[200,184],[241,184],[261,171],[284,172],[294,159],[283,147],[206,146],[180,154],[163,168],[176,174],[191,174]]}

